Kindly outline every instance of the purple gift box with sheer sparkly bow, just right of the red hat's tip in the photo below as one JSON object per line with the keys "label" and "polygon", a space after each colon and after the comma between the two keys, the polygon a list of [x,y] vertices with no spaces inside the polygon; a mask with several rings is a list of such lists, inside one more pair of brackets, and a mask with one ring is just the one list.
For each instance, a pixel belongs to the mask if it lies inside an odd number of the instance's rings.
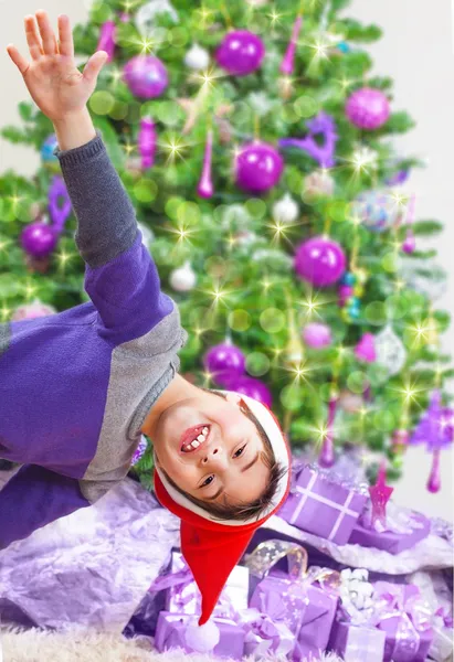
{"label": "purple gift box with sheer sparkly bow, just right of the red hat's tip", "polygon": [[296,636],[292,660],[317,656],[325,650],[336,615],[338,597],[308,580],[292,580],[282,570],[263,579],[251,598],[251,607],[284,621]]}

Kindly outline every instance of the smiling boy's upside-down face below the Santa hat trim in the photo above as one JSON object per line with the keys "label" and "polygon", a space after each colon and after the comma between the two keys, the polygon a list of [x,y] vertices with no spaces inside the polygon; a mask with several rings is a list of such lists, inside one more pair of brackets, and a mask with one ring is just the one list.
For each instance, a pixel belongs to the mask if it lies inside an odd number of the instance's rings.
{"label": "smiling boy's upside-down face below the Santa hat trim", "polygon": [[[180,401],[161,415],[154,439],[159,467],[188,494],[210,502],[251,502],[266,488],[270,469],[262,459],[264,445],[255,425],[241,412],[241,396],[226,401],[201,392]],[[209,436],[184,452],[181,435],[205,425]],[[196,438],[196,437],[194,437]]]}

